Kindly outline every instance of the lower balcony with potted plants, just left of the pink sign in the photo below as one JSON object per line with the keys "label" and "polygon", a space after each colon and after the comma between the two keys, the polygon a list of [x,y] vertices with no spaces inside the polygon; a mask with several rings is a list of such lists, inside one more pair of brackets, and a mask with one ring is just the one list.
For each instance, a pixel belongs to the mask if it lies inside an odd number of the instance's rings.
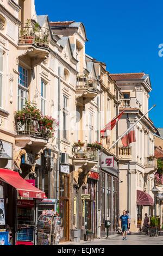
{"label": "lower balcony with potted plants, just left of the pink sign", "polygon": [[84,143],[78,145],[74,143],[72,152],[75,157],[74,163],[78,166],[87,166],[93,168],[98,162],[98,148],[88,147],[89,144]]}

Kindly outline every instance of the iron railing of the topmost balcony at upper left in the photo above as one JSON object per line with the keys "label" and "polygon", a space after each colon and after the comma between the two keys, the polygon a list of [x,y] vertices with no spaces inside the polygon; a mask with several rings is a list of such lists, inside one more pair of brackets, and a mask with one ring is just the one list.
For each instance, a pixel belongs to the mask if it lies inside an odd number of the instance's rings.
{"label": "iron railing of the topmost balcony at upper left", "polygon": [[22,23],[19,28],[18,42],[49,48],[49,29],[35,26],[33,23]]}

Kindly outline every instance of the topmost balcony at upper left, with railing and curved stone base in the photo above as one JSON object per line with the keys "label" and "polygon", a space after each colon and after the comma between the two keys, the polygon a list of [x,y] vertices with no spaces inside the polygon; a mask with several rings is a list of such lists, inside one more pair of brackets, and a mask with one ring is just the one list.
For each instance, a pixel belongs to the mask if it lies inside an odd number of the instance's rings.
{"label": "topmost balcony at upper left, with railing and curved stone base", "polygon": [[49,53],[49,29],[38,23],[22,23],[18,33],[18,56],[28,56],[39,65]]}

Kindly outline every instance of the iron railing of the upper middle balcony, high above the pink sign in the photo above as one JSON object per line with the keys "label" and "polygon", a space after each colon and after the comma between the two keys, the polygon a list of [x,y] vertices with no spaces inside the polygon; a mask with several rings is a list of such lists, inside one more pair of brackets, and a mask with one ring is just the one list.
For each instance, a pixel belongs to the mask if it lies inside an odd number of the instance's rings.
{"label": "iron railing of the upper middle balcony, high above the pink sign", "polygon": [[77,89],[85,89],[97,92],[98,81],[95,76],[78,74]]}

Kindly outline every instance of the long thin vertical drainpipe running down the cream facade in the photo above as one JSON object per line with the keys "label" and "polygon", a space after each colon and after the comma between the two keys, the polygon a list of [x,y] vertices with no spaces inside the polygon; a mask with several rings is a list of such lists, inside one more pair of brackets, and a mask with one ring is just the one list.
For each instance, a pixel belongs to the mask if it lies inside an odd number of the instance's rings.
{"label": "long thin vertical drainpipe running down the cream facade", "polygon": [[58,154],[57,154],[57,191],[56,191],[56,196],[57,200],[59,200],[59,170],[60,170],[60,66],[58,67]]}

